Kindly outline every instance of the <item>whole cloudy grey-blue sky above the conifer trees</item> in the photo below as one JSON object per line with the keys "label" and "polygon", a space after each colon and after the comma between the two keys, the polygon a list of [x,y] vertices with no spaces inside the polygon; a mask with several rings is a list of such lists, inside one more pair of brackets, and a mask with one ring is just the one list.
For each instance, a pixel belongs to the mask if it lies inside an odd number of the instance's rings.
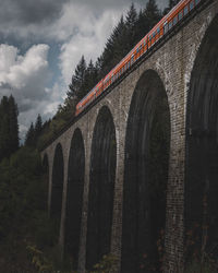
{"label": "whole cloudy grey-blue sky above the conifer trees", "polygon": [[[52,117],[81,56],[96,60],[131,2],[0,0],[0,98],[15,97],[22,139],[38,114]],[[160,8],[167,2],[157,0]]]}

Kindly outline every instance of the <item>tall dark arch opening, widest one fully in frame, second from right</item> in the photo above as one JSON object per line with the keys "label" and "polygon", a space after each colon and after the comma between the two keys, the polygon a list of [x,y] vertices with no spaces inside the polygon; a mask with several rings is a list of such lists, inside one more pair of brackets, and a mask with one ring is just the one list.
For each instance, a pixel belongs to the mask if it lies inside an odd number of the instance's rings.
{"label": "tall dark arch opening, widest one fully in frame, second from right", "polygon": [[121,272],[160,271],[157,242],[166,224],[170,111],[154,70],[135,87],[125,139]]}

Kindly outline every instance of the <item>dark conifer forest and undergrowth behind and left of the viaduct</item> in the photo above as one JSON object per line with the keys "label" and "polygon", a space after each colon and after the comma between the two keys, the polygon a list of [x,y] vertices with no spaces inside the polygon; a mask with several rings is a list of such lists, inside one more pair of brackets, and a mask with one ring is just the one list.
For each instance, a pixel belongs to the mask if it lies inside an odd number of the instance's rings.
{"label": "dark conifer forest and undergrowth behind and left of the viaduct", "polygon": [[[48,218],[48,176],[39,151],[74,117],[77,102],[89,92],[179,1],[162,12],[155,0],[136,10],[132,3],[108,37],[94,63],[82,55],[69,83],[63,105],[52,119],[40,115],[31,123],[23,144],[19,138],[19,108],[13,96],[0,102],[0,271],[72,272],[73,260],[60,261],[56,223]],[[112,272],[113,258],[102,260],[94,272]]]}

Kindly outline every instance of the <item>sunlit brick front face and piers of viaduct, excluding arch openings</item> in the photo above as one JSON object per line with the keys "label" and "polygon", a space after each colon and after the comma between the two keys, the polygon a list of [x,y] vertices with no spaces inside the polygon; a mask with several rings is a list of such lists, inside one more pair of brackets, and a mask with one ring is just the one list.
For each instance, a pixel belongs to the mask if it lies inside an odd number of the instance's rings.
{"label": "sunlit brick front face and piers of viaduct, excluding arch openings", "polygon": [[[205,1],[206,2],[206,1]],[[183,201],[184,201],[184,158],[185,158],[185,114],[186,98],[192,68],[205,32],[218,13],[218,1],[210,1],[204,10],[185,23],[183,27],[154,50],[137,68],[120,82],[107,96],[81,117],[69,130],[60,135],[45,151],[49,158],[49,197],[51,200],[52,164],[58,143],[63,150],[64,186],[60,228],[60,247],[64,242],[64,218],[68,191],[68,161],[73,132],[80,128],[85,144],[85,186],[83,195],[83,215],[80,242],[78,272],[85,272],[85,247],[87,232],[89,158],[92,138],[95,122],[102,106],[110,109],[116,127],[117,139],[117,170],[113,202],[111,252],[121,257],[122,237],[122,198],[124,177],[125,132],[131,99],[138,79],[146,70],[155,70],[160,76],[170,108],[171,142],[169,162],[169,181],[167,191],[167,223],[166,223],[166,268],[165,272],[183,272]],[[118,264],[118,272],[120,271]]]}

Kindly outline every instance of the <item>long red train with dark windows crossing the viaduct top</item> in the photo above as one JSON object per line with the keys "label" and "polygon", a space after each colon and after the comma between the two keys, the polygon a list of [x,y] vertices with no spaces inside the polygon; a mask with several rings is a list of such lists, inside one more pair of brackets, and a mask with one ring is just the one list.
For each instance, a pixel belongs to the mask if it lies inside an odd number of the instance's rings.
{"label": "long red train with dark windows crossing the viaduct top", "polygon": [[85,109],[96,97],[124,74],[133,63],[174,27],[183,17],[203,0],[181,0],[140,43],[76,105],[75,116]]}

